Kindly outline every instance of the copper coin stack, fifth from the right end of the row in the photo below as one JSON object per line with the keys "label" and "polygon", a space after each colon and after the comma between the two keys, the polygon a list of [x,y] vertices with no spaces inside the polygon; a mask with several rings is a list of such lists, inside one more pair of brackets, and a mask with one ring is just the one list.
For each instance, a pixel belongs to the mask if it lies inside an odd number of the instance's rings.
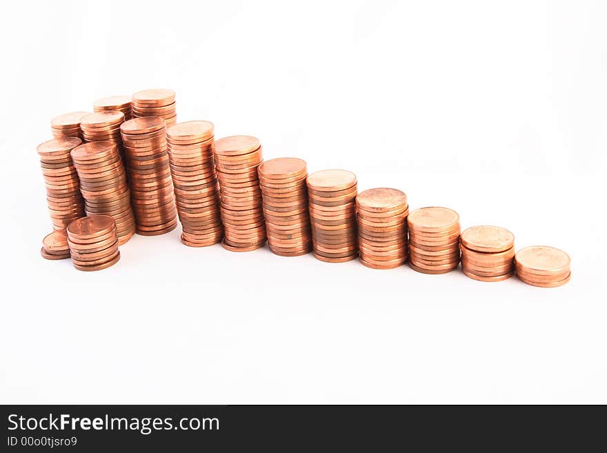
{"label": "copper coin stack, fifth from the right end of the row", "polygon": [[346,170],[321,170],[308,176],[308,200],[314,256],[342,263],[358,255],[357,181]]}

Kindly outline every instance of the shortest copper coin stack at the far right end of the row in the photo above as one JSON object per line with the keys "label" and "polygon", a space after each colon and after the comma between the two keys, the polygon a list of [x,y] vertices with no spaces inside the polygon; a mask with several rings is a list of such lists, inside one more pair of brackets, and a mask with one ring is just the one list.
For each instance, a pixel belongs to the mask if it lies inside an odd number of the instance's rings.
{"label": "shortest copper coin stack at the far right end of the row", "polygon": [[554,288],[571,279],[569,255],[553,247],[534,245],[519,250],[515,266],[519,279],[528,285]]}

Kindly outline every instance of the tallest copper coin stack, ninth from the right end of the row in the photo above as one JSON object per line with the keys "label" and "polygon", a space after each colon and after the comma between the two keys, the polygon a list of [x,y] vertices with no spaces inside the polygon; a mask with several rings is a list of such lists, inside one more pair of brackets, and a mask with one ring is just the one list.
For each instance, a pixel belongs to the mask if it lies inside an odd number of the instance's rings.
{"label": "tallest copper coin stack, ninth from the right end of the row", "polygon": [[133,118],[122,123],[121,132],[137,234],[156,236],[175,230],[177,211],[164,120]]}

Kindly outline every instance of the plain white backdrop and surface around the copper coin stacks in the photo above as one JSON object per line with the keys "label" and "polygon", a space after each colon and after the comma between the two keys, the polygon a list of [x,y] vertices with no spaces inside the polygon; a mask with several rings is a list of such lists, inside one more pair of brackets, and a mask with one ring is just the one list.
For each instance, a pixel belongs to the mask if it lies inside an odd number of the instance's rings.
{"label": "plain white backdrop and surface around the copper coin stacks", "polygon": [[[0,28],[2,403],[607,403],[601,1],[13,2]],[[135,236],[46,261],[50,119],[146,88],[266,159],[501,225],[557,289]]]}

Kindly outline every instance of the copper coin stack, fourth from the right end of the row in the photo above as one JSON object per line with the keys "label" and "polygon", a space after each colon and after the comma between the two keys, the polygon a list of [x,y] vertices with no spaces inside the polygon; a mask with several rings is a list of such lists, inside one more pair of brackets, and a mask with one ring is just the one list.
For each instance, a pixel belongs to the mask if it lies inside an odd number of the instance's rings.
{"label": "copper coin stack, fourth from the right end of the row", "polygon": [[407,216],[404,192],[378,188],[356,197],[360,262],[368,268],[392,269],[407,261]]}

